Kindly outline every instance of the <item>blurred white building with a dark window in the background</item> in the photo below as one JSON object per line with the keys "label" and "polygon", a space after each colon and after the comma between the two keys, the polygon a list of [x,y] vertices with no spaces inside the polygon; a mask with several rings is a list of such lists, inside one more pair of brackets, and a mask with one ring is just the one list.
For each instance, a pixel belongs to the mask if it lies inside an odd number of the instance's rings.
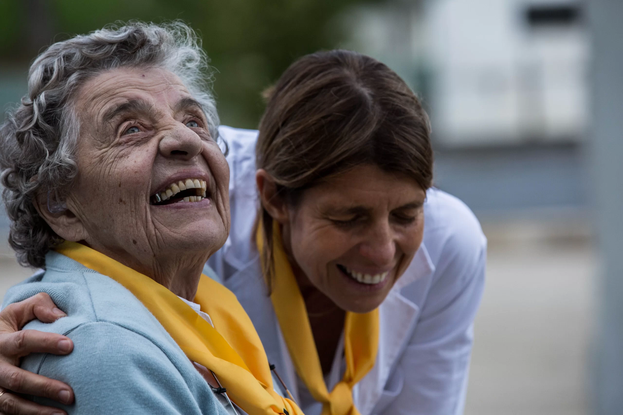
{"label": "blurred white building with a dark window in the background", "polygon": [[584,136],[588,39],[578,2],[394,1],[350,21],[356,49],[424,94],[439,144]]}

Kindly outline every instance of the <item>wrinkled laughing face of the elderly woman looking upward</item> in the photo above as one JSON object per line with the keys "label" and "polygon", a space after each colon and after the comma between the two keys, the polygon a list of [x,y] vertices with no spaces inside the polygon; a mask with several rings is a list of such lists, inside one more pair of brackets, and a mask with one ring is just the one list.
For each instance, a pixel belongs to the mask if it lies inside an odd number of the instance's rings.
{"label": "wrinkled laughing face of the elderly woman looking upward", "polygon": [[67,207],[82,223],[78,237],[145,273],[181,254],[205,261],[222,246],[229,167],[176,75],[103,72],[81,86],[74,109],[78,177]]}

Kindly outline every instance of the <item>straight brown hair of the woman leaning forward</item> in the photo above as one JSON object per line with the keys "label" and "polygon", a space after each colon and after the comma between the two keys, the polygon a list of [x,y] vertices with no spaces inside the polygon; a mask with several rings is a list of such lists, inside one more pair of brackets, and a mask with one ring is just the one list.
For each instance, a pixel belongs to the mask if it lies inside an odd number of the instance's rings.
{"label": "straight brown hair of the woman leaning forward", "polygon": [[[394,71],[357,52],[317,52],[292,63],[270,91],[259,129],[255,165],[290,203],[361,164],[407,175],[424,190],[432,184],[426,112]],[[256,228],[260,218],[270,291],[273,219],[262,205]]]}

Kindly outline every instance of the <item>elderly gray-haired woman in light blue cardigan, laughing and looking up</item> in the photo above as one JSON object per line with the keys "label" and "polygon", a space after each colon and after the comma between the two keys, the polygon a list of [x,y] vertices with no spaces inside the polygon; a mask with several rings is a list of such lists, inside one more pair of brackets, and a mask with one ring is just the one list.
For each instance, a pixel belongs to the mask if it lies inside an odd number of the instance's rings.
{"label": "elderly gray-haired woman in light blue cardigan, laughing and looking up", "polygon": [[5,302],[45,292],[69,315],[28,327],[73,353],[22,361],[72,385],[67,413],[299,412],[240,304],[202,276],[230,226],[206,69],[183,24],[98,30],[39,55],[2,126],[11,245],[45,269]]}

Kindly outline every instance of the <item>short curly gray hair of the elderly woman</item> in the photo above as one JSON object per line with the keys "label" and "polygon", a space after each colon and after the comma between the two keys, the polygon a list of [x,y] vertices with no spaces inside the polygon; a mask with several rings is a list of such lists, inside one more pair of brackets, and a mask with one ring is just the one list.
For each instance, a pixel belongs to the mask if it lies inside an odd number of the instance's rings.
{"label": "short curly gray hair of the elderly woman", "polygon": [[28,93],[0,127],[9,244],[22,265],[44,267],[45,254],[62,242],[32,200],[47,192],[48,208],[54,212],[50,203],[62,200],[76,177],[80,125],[72,94],[89,78],[119,67],[162,67],[178,75],[201,103],[212,137],[218,137],[207,57],[201,40],[183,22],[128,22],[52,44],[32,63]]}

